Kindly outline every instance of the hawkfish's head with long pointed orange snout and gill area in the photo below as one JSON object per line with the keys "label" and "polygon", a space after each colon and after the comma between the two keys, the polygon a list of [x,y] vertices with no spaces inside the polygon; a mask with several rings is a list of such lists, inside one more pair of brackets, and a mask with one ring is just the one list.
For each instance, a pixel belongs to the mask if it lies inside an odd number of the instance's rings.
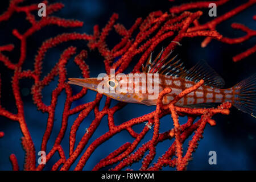
{"label": "hawkfish's head with long pointed orange snout and gill area", "polygon": [[[148,100],[147,84],[142,84],[139,79],[129,79],[128,75],[97,77],[97,78],[69,78],[69,84],[83,86],[90,90],[104,94],[114,100],[137,103],[144,105],[155,105],[154,100]],[[144,89],[144,92],[143,92]]]}

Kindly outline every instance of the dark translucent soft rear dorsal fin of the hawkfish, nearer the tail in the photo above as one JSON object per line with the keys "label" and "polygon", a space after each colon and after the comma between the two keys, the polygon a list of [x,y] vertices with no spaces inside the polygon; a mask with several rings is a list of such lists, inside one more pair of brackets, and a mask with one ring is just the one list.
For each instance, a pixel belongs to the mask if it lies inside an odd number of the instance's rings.
{"label": "dark translucent soft rear dorsal fin of the hawkfish, nearer the tail", "polygon": [[223,88],[225,81],[218,75],[206,61],[199,61],[195,66],[186,71],[181,77],[189,81],[199,82],[204,80],[204,85],[212,86],[214,88]]}

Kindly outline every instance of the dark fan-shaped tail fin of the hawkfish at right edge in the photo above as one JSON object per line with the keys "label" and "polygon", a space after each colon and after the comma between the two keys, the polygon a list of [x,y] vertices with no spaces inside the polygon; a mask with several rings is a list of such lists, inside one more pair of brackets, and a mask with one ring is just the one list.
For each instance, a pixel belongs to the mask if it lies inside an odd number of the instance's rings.
{"label": "dark fan-shaped tail fin of the hawkfish at right edge", "polygon": [[234,89],[239,92],[236,95],[234,106],[237,109],[256,117],[256,74],[241,81],[234,86]]}

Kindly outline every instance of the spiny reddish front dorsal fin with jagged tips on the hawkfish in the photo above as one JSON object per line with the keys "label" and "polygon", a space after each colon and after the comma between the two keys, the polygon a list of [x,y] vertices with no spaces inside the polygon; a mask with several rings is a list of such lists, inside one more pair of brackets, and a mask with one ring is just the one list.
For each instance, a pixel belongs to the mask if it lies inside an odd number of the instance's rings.
{"label": "spiny reddish front dorsal fin with jagged tips on the hawkfish", "polygon": [[[170,52],[166,57],[160,59],[162,56],[162,51],[156,56],[155,60],[152,62],[152,53],[150,57],[148,57],[146,66],[142,65],[142,71],[144,73],[159,73],[162,75],[171,75],[179,77],[185,73],[185,69],[183,67],[183,62],[181,60],[176,60],[177,55],[170,56],[172,52]],[[167,60],[168,57],[171,57],[170,60]]]}

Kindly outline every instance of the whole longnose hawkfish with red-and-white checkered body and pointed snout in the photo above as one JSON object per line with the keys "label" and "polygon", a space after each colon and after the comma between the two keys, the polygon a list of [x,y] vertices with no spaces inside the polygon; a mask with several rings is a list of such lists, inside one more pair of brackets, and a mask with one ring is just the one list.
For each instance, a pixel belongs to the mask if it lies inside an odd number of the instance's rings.
{"label": "whole longnose hawkfish with red-and-white checkered body and pointed snout", "polygon": [[[177,55],[168,60],[172,51],[160,59],[162,53],[163,49],[154,61],[152,61],[151,53],[146,65],[142,65],[142,72],[135,73],[136,76],[129,73],[119,77],[110,74],[98,78],[69,78],[68,83],[94,90],[114,100],[152,106],[156,105],[158,94],[164,88],[171,88],[172,90],[163,97],[163,104],[168,104],[183,90],[191,88],[200,80],[204,80],[202,86],[182,97],[175,105],[203,108],[230,102],[238,110],[253,117],[256,116],[255,73],[232,88],[224,89],[224,79],[206,61],[199,61],[192,68],[185,69],[183,61],[177,60]],[[118,87],[119,92],[115,92]],[[99,88],[101,88],[101,92]],[[152,93],[152,90],[155,93]]]}

